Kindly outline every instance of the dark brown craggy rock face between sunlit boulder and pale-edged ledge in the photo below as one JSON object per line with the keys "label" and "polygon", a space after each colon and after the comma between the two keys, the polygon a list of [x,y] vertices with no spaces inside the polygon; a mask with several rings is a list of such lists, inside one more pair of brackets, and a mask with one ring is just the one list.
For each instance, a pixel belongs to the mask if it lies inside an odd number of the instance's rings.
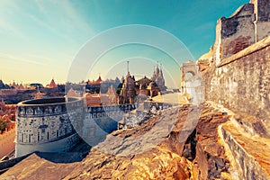
{"label": "dark brown craggy rock face between sunlit boulder and pale-edged ledge", "polygon": [[202,179],[220,178],[222,173],[228,173],[229,160],[217,131],[225,121],[229,121],[226,112],[217,112],[210,107],[202,109],[196,127],[196,159],[193,162],[198,164]]}

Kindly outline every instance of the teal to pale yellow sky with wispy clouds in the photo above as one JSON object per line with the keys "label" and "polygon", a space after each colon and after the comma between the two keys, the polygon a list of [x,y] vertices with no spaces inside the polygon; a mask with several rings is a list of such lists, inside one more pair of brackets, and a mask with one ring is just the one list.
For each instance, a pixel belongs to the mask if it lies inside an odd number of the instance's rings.
{"label": "teal to pale yellow sky with wispy clouds", "polygon": [[[179,64],[208,52],[215,40],[217,20],[229,17],[247,3],[247,0],[1,0],[0,78],[7,84],[15,81],[47,85],[51,78],[64,83],[69,76],[82,72],[74,65],[84,53],[82,56],[86,58],[78,61],[85,67],[82,76],[78,76],[84,78],[81,80],[96,79],[99,74],[103,79],[125,76],[127,60],[130,74],[150,77],[158,61],[167,86],[174,86],[174,81],[178,86]],[[155,33],[137,31],[132,24],[148,26]],[[129,26],[128,35],[137,34],[139,43],[119,42],[93,58],[96,49],[126,35],[126,31],[117,29],[119,26]],[[156,30],[166,32],[166,36],[160,37]],[[108,31],[110,36],[106,36]],[[171,47],[178,46],[171,45],[166,37],[175,37],[182,43],[178,59],[168,53],[177,51]],[[162,43],[164,48],[158,49],[153,43]]]}

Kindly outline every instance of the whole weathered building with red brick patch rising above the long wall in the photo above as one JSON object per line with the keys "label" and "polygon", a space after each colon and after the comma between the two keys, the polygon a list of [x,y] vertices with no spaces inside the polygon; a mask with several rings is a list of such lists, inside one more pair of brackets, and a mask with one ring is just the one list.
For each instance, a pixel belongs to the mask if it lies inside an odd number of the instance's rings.
{"label": "whole weathered building with red brick patch rising above the long wall", "polygon": [[269,0],[251,0],[229,18],[221,17],[218,20],[213,48],[214,64],[219,64],[222,59],[246,49],[269,34]]}

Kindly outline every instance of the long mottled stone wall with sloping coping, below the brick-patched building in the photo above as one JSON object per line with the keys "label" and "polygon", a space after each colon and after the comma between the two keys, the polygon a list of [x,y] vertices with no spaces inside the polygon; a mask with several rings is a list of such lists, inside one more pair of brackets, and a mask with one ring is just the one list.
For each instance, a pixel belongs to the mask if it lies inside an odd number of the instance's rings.
{"label": "long mottled stone wall with sloping coping, below the brick-patched building", "polygon": [[205,100],[265,120],[270,130],[270,37],[202,72]]}

